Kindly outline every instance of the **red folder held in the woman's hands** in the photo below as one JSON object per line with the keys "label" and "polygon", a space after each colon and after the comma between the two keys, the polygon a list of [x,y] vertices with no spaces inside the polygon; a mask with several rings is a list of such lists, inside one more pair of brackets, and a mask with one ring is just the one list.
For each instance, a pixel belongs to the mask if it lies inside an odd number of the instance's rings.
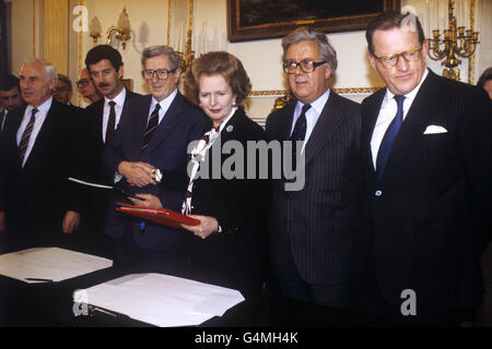
{"label": "red folder held in the woman's hands", "polygon": [[142,206],[133,206],[124,203],[116,203],[120,207],[116,207],[116,210],[144,218],[147,220],[164,225],[173,228],[181,228],[181,224],[187,226],[198,226],[200,220],[181,215],[177,212],[166,208],[149,208]]}

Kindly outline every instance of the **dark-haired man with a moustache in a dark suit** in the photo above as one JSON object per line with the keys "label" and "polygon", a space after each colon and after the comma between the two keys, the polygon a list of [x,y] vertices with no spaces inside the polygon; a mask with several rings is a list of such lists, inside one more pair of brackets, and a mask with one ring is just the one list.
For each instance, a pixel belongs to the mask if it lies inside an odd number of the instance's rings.
{"label": "dark-haired man with a moustache in a dark suit", "polygon": [[[108,45],[98,45],[89,50],[85,57],[92,83],[104,98],[89,106],[84,113],[85,146],[81,148],[81,158],[85,164],[85,178],[92,182],[112,185],[114,176],[108,176],[102,163],[105,145],[113,137],[128,101],[138,94],[127,89],[122,84],[124,62],[121,55]],[[87,189],[87,207],[85,208],[84,230],[87,236],[89,252],[107,255],[108,241],[103,234],[109,193]]]}

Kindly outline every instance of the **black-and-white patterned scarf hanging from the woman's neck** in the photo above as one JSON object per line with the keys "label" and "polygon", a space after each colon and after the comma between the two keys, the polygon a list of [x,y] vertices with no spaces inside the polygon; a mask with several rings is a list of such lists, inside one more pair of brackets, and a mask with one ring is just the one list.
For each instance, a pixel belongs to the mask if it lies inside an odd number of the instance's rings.
{"label": "black-and-white patterned scarf hanging from the woman's neck", "polygon": [[213,142],[215,142],[215,140],[219,137],[219,135],[220,135],[220,127],[212,128],[212,130],[210,130],[210,131],[206,132],[206,134],[203,134],[203,136],[200,139],[200,141],[195,146],[195,148],[191,151],[190,160],[194,166],[191,168],[191,173],[189,177],[189,183],[188,183],[188,189],[186,191],[185,200],[183,201],[183,205],[181,205],[181,213],[184,215],[191,214],[191,192],[194,190],[195,177],[197,177],[198,168],[200,167],[200,163],[204,160],[207,152],[213,145]]}

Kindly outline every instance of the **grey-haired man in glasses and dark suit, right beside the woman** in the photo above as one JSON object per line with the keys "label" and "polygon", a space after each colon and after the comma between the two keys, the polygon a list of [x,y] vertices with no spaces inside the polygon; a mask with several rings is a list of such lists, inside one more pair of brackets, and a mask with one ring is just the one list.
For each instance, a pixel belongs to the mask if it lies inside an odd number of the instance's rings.
{"label": "grey-haired man in glasses and dark suit, right beside the woman", "polygon": [[295,99],[268,117],[267,134],[305,142],[305,166],[297,168],[305,183],[298,191],[285,190],[284,180],[273,185],[273,276],[281,294],[348,308],[359,218],[360,109],[330,89],[337,56],[325,34],[300,27],[282,46]]}

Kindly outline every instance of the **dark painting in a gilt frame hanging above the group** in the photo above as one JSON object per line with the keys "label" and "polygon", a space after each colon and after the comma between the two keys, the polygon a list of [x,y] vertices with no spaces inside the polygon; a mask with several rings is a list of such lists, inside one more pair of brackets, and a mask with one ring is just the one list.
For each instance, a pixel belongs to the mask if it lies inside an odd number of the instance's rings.
{"label": "dark painting in a gilt frame hanging above the group", "polygon": [[227,39],[231,43],[281,37],[307,25],[324,33],[361,31],[400,0],[227,0]]}

